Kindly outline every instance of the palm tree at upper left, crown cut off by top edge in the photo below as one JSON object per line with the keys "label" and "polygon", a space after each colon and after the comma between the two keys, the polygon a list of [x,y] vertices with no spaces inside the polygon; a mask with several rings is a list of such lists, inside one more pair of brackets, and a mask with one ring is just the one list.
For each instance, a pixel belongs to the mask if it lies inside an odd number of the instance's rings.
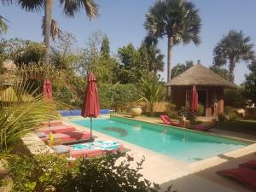
{"label": "palm tree at upper left, crown cut off by top edge", "polygon": [[[46,46],[44,62],[49,64],[49,40],[51,37],[52,26],[52,7],[54,0],[1,0],[3,4],[15,3],[26,11],[39,11],[44,9],[44,44]],[[84,8],[89,19],[96,18],[98,15],[98,4],[94,0],[60,0],[63,12],[68,17],[74,17],[75,13]]]}

